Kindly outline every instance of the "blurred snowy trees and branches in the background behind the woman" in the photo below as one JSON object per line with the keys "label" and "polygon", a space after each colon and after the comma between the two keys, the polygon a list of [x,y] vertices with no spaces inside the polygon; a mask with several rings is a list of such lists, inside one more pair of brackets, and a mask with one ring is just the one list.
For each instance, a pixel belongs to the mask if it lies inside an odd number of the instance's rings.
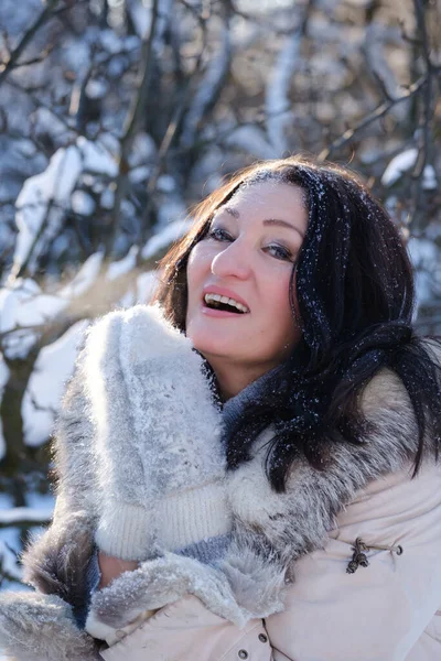
{"label": "blurred snowy trees and branches in the background behind the woman", "polygon": [[258,159],[362,172],[441,333],[439,0],[1,0],[0,588],[50,520],[82,332],[148,301],[187,208]]}

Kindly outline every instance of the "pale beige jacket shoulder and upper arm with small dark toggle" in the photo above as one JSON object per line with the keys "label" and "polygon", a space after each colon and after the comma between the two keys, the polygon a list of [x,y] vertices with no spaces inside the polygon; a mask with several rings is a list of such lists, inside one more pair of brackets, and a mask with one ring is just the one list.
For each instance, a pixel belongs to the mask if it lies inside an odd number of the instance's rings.
{"label": "pale beige jacket shoulder and upper arm with small dark toggle", "polygon": [[[402,469],[358,491],[324,549],[295,563],[286,610],[266,620],[271,644],[287,658],[441,658],[441,640],[427,647],[424,635],[440,619],[441,467],[424,464],[416,478],[410,474]],[[368,564],[348,573],[357,539]],[[322,630],[319,620],[326,622]]]}

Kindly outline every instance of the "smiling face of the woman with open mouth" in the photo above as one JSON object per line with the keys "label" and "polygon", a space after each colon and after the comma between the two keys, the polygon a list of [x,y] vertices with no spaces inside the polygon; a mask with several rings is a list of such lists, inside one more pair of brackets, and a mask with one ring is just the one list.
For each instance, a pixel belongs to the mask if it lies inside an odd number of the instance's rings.
{"label": "smiling face of the woman with open mouth", "polygon": [[247,368],[254,380],[298,342],[289,284],[306,224],[300,187],[256,183],[216,212],[208,235],[193,248],[186,335],[215,371],[226,361]]}

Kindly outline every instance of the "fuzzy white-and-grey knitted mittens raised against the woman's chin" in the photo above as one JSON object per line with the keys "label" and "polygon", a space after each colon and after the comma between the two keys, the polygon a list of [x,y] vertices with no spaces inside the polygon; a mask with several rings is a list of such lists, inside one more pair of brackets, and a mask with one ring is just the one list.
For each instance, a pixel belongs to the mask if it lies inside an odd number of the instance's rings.
{"label": "fuzzy white-and-grey knitted mittens raised against the woman's chin", "polygon": [[88,332],[85,390],[95,425],[96,543],[143,561],[215,556],[232,529],[222,415],[204,361],[158,306],[103,317]]}

